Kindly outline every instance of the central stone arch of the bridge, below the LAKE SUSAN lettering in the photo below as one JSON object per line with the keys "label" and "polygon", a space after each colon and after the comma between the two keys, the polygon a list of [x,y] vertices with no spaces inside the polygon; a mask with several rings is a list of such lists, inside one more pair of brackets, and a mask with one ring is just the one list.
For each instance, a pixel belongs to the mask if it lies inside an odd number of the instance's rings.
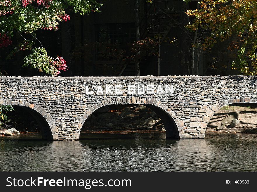
{"label": "central stone arch of the bridge, below the LAKE SUSAN lettering", "polygon": [[[94,107],[88,108],[84,116],[81,118],[78,124],[77,133],[74,134],[74,140],[79,139],[80,130],[88,118],[95,110],[106,105],[145,105],[146,107],[153,110],[162,119],[164,127],[166,129],[166,138],[180,138],[179,126],[174,120],[175,112],[171,111],[166,105],[155,98],[144,98],[144,97],[115,97],[105,98]],[[182,128],[182,127],[180,127]]]}

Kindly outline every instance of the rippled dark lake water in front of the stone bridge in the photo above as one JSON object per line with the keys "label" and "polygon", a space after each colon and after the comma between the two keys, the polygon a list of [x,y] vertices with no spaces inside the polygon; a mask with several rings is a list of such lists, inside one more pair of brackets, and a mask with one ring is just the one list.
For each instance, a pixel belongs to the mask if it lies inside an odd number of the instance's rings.
{"label": "rippled dark lake water in front of the stone bridge", "polygon": [[166,140],[163,132],[0,137],[1,171],[257,171],[257,135],[208,133]]}

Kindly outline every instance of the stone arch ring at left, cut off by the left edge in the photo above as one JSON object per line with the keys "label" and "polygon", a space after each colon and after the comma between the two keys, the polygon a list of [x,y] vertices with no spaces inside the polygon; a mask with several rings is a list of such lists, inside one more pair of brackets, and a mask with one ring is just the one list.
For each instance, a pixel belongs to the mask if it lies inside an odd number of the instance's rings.
{"label": "stone arch ring at left, cut off by the left edge", "polygon": [[[11,98],[1,98],[0,105],[17,105],[24,107],[25,109],[35,110],[37,114],[41,117],[38,121],[39,125],[46,125],[48,128],[42,129],[42,139],[47,140],[55,140],[58,136],[58,130],[55,126],[55,120],[52,118],[50,113],[48,113],[43,107],[40,105],[36,105],[34,103],[29,103],[25,99],[11,99]],[[31,113],[33,115],[33,113]],[[35,117],[35,116],[34,116]]]}

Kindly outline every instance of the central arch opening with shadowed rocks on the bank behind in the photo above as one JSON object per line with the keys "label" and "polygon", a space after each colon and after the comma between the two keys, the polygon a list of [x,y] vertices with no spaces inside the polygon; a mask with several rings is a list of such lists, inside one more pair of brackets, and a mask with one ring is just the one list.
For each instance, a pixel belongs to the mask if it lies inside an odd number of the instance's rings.
{"label": "central arch opening with shadowed rocks on the bank behind", "polygon": [[167,139],[178,139],[178,127],[171,115],[151,104],[105,105],[94,110],[84,121],[85,131],[165,131]]}

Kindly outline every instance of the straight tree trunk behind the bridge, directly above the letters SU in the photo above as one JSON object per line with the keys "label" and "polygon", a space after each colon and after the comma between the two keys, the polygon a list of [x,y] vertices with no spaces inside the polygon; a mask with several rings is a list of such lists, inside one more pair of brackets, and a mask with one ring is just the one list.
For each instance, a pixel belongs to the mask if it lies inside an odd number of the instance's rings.
{"label": "straight tree trunk behind the bridge, directly above the letters SU", "polygon": [[[136,0],[135,4],[135,12],[136,12],[136,41],[140,41],[140,26],[139,26],[139,11],[138,11],[139,3],[138,0]],[[140,65],[139,65],[139,54],[140,51],[136,54],[136,60],[135,60],[135,76],[140,76]]]}

